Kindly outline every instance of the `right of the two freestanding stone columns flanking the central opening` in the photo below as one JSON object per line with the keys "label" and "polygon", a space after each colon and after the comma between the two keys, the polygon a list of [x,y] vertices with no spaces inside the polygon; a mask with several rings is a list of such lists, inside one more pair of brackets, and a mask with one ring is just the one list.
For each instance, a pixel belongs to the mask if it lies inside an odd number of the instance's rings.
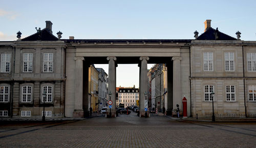
{"label": "right of the two freestanding stone columns flanking the central opening", "polygon": [[[145,92],[147,93],[147,61],[150,60],[149,57],[140,57],[140,117],[145,115],[145,106],[144,106],[144,100],[145,100]],[[148,99],[148,98],[146,98]],[[149,116],[149,114],[147,114]]]}

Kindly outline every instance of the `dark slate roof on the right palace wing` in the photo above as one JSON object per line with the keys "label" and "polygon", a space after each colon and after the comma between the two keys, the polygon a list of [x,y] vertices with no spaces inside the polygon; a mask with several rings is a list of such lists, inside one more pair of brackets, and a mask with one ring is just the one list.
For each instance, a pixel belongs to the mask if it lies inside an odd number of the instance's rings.
{"label": "dark slate roof on the right palace wing", "polygon": [[[210,27],[206,32],[204,32],[202,35],[200,35],[197,40],[216,40],[215,38],[215,31],[216,29]],[[219,38],[217,40],[237,40],[236,38],[233,38],[231,36],[228,36],[226,34],[223,34],[222,32],[219,32]]]}

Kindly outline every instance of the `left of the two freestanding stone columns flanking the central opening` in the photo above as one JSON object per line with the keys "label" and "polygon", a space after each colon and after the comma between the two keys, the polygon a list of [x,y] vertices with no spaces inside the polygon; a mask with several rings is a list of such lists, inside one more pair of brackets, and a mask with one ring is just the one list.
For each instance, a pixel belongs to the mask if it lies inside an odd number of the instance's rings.
{"label": "left of the two freestanding stone columns flanking the central opening", "polygon": [[[111,92],[112,95],[111,101],[113,102],[112,108],[111,108],[111,114],[112,117],[116,116],[116,57],[107,57],[106,60],[109,61],[109,92]],[[108,98],[110,100],[110,98]],[[110,109],[108,109],[110,111]]]}

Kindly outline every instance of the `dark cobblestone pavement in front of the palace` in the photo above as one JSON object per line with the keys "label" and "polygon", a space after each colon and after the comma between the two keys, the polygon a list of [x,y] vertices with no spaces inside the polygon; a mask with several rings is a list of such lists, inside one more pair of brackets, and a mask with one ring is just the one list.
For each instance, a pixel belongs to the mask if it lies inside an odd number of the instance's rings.
{"label": "dark cobblestone pavement in front of the palace", "polygon": [[0,122],[0,147],[256,147],[256,124],[140,118],[133,112],[112,119]]}

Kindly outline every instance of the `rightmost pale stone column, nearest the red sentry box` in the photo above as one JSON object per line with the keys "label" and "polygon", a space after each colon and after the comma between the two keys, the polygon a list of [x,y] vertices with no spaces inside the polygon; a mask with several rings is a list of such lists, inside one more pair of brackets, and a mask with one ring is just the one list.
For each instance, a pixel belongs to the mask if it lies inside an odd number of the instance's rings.
{"label": "rightmost pale stone column, nearest the red sentry box", "polygon": [[[180,61],[181,57],[173,57],[173,113],[177,109],[177,104],[181,110],[181,87],[180,87]],[[176,113],[175,113],[176,114]]]}

